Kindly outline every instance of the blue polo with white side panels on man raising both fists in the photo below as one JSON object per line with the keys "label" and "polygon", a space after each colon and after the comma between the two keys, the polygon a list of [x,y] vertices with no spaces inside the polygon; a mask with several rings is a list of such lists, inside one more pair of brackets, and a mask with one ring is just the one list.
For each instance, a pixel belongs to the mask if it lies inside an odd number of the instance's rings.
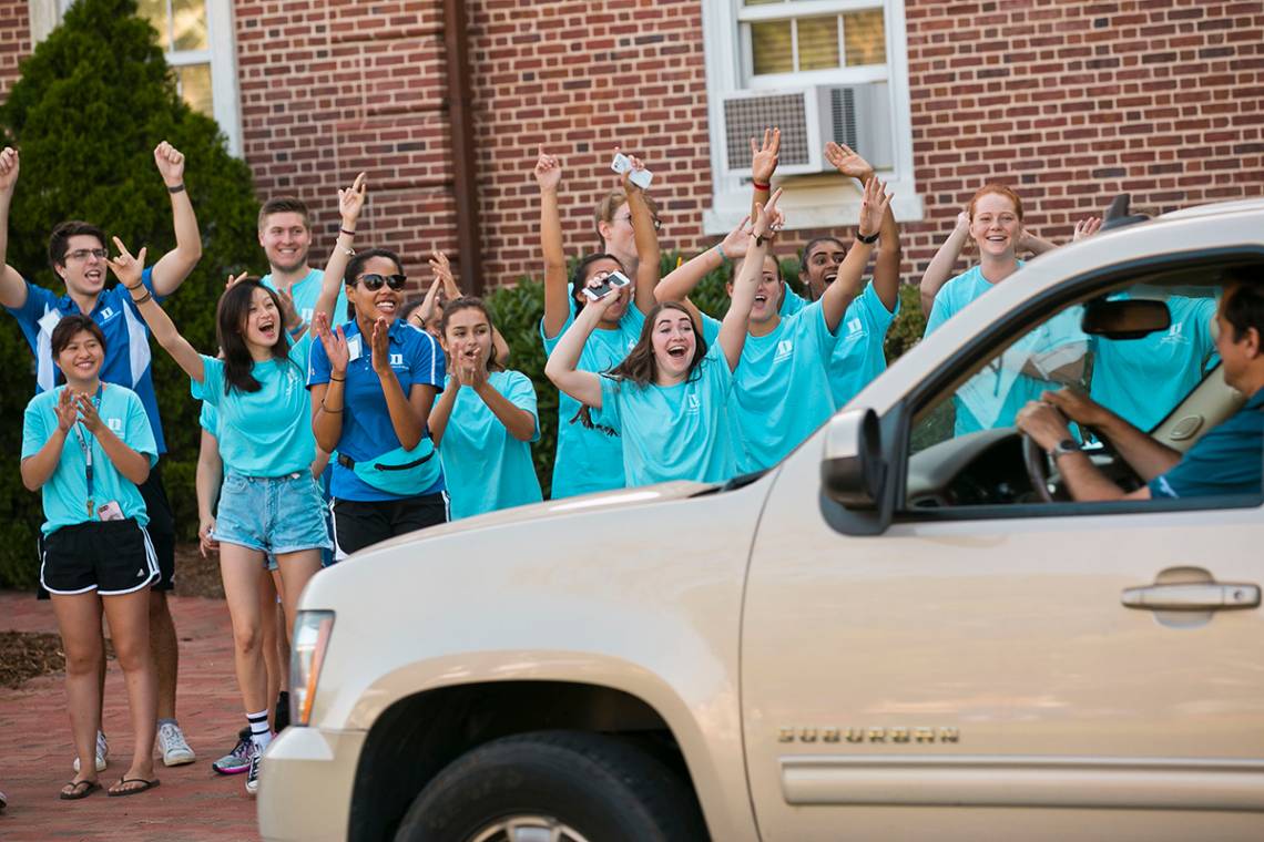
{"label": "blue polo with white side panels on man raising both fists", "polygon": [[[153,292],[153,266],[140,275],[149,292]],[[154,295],[159,302],[162,297]],[[35,355],[35,394],[48,391],[64,379],[53,364],[53,328],[63,316],[80,313],[78,304],[70,294],[58,297],[49,289],[27,282],[27,303],[21,307],[6,307],[18,327],[27,337],[27,345]],[[158,418],[158,398],[154,395],[152,374],[153,356],[149,352],[149,327],[140,318],[131,294],[115,284],[101,290],[96,307],[88,313],[105,336],[105,361],[101,364],[101,380],[115,382],[137,393],[140,404],[149,417],[158,453],[167,452],[162,436],[162,419]]]}

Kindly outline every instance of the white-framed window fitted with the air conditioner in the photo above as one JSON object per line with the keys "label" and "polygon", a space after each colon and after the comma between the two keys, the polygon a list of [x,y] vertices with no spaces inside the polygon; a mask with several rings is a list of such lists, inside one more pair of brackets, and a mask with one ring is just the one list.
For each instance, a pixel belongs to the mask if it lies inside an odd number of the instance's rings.
{"label": "white-framed window fitted with the air conditioner", "polygon": [[[828,102],[829,92],[839,86],[870,93],[865,98],[873,107],[865,114],[876,115],[872,119],[881,124],[876,135],[882,139],[885,160],[878,174],[895,192],[896,217],[921,218],[913,177],[904,5],[904,0],[703,0],[714,186],[713,205],[703,220],[707,234],[729,231],[750,208],[750,179],[731,170],[744,153],[737,151],[732,130],[726,136],[726,101],[733,95],[796,91],[805,92],[813,102],[808,109],[818,111],[827,106],[817,109],[815,104]],[[782,165],[786,141],[782,129]],[[824,145],[815,135],[795,143]],[[779,182],[787,187],[782,207],[790,227],[854,223],[860,191],[837,173],[782,172]]]}

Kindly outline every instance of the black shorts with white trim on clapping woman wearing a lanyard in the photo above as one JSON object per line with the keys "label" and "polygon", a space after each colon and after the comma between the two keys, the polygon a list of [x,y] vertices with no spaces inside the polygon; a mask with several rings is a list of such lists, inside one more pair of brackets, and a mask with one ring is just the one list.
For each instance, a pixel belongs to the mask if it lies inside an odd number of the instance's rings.
{"label": "black shorts with white trim on clapping woman wearing a lanyard", "polygon": [[39,583],[51,593],[119,596],[157,579],[153,545],[134,518],[62,526],[44,539]]}

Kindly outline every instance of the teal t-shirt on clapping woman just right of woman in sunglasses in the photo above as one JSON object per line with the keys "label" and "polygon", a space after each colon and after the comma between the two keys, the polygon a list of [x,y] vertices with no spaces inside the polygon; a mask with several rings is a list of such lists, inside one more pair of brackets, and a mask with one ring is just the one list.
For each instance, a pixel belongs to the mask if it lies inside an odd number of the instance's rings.
{"label": "teal t-shirt on clapping woman just right of woman in sunglasses", "polygon": [[[453,389],[451,377],[447,381]],[[493,371],[488,382],[511,404],[531,413],[536,419],[531,441],[538,439],[540,418],[531,379],[521,371]],[[511,436],[473,389],[456,393],[439,457],[447,478],[453,520],[544,499],[531,461],[531,444]]]}

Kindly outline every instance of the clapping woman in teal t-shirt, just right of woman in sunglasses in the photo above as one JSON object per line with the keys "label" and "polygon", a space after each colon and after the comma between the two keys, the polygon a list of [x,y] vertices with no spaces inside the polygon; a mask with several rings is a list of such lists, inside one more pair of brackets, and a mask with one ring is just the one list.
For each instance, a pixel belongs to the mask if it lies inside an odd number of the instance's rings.
{"label": "clapping woman in teal t-shirt, just right of woman in sunglasses", "polygon": [[453,519],[540,502],[531,442],[540,438],[536,389],[498,361],[492,314],[478,298],[444,305],[447,385],[430,414]]}

